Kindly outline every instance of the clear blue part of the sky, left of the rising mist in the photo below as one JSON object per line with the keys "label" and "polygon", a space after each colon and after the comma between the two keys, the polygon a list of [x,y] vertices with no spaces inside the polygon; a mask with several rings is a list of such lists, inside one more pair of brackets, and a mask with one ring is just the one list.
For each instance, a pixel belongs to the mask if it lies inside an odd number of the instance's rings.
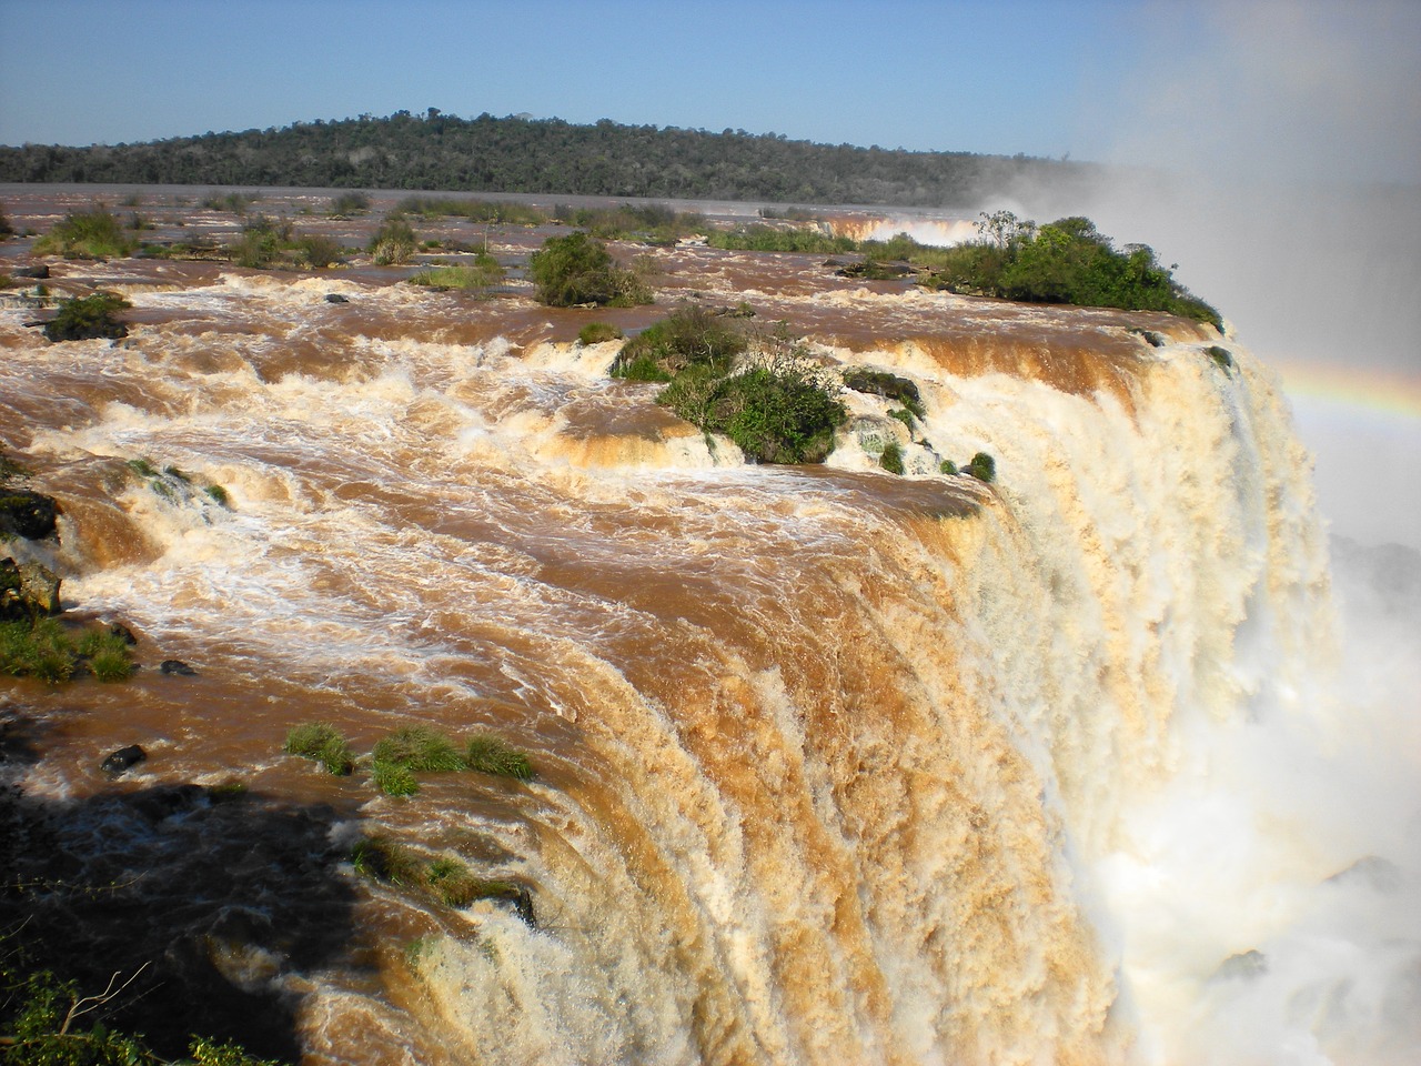
{"label": "clear blue part of the sky, left of the rising mist", "polygon": [[1138,34],[1137,9],[0,0],[0,142],[114,144],[438,107],[1079,155],[1091,71]]}

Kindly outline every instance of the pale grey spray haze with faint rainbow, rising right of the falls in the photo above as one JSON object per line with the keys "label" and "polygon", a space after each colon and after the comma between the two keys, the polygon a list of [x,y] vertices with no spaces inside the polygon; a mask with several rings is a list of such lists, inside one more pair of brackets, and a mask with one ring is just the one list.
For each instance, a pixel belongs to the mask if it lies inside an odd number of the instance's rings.
{"label": "pale grey spray haze with faint rainbow, rising right of the falls", "polygon": [[[1334,532],[1421,547],[1421,6],[1152,4],[1090,77],[1088,193],[1276,365]],[[1104,108],[1104,109],[1103,109]]]}

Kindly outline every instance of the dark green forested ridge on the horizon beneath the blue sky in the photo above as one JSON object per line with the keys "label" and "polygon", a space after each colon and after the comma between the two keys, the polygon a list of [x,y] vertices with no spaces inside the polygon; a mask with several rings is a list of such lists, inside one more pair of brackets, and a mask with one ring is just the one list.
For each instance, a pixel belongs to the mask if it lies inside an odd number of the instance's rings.
{"label": "dark green forested ridge on the horizon beneath the blue sky", "polygon": [[603,119],[465,119],[436,108],[146,144],[0,146],[3,182],[762,199],[971,208],[1017,182],[1077,183],[1094,168],[1032,156],[908,152],[776,134]]}

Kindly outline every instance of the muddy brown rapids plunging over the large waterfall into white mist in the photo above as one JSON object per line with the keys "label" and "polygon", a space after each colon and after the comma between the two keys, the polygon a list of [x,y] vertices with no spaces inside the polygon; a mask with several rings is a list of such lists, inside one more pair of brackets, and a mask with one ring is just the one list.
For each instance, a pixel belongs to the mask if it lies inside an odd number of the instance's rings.
{"label": "muddy brown rapids plunging over the large waterfall into white mist", "polygon": [[[911,378],[922,425],[845,392],[826,468],[743,465],[607,377],[593,313],[388,271],[55,267],[134,303],[112,345],[0,310],[47,557],[148,667],[7,682],[44,752],[10,775],[125,928],[283,1005],[308,1063],[1417,1062],[1415,617],[1336,617],[1270,370],[1164,316],[649,254],[661,310],[745,300]],[[978,451],[995,485],[938,473]],[[313,719],[493,731],[537,776],[384,797],[281,753]],[[253,826],[300,847],[215,836]],[[364,877],[361,834],[536,917]]]}

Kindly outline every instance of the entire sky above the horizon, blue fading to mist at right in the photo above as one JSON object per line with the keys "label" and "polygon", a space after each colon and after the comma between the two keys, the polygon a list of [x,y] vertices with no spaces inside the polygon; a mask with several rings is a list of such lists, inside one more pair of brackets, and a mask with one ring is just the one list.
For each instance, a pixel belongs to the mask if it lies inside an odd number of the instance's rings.
{"label": "entire sky above the horizon, blue fading to mist at right", "polygon": [[429,107],[1414,181],[1417,0],[0,0],[0,144]]}

